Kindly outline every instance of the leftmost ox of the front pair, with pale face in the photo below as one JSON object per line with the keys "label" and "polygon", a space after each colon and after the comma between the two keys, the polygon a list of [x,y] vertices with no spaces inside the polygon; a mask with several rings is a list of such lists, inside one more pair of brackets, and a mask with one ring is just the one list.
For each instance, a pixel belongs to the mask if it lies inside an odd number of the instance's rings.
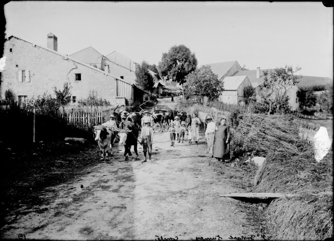
{"label": "leftmost ox of the front pair, with pale face", "polygon": [[108,157],[108,152],[110,151],[110,156],[112,156],[112,143],[116,137],[116,129],[112,130],[104,126],[94,127],[95,141],[97,141],[101,152],[101,160],[105,160]]}

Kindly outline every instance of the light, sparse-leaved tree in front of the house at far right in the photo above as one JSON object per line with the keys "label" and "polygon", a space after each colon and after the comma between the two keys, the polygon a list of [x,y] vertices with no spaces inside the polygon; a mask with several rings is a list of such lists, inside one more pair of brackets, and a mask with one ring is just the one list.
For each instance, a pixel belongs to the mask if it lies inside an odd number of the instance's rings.
{"label": "light, sparse-leaved tree in front of the house at far right", "polygon": [[269,111],[271,113],[272,105],[277,105],[276,108],[279,110],[282,103],[286,101],[281,101],[289,97],[286,95],[287,91],[291,89],[294,85],[298,83],[298,79],[301,76],[294,75],[294,73],[301,68],[297,67],[295,71],[291,66],[285,66],[284,68],[276,68],[274,70],[264,70],[264,81],[259,85],[259,95],[266,101],[269,101]]}

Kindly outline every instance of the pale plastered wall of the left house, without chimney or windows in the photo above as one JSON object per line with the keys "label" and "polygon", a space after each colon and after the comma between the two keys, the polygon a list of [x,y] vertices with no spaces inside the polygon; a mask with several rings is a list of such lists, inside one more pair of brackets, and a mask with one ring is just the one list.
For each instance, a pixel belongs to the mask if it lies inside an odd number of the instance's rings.
{"label": "pale plastered wall of the left house, without chimney or windows", "polygon": [[[17,98],[19,95],[26,95],[27,98],[37,97],[44,93],[54,96],[53,87],[62,89],[64,82],[69,82],[72,85],[72,96],[76,96],[77,100],[88,97],[89,91],[95,90],[99,97],[111,103],[116,102],[116,79],[94,67],[90,68],[70,59],[65,60],[66,57],[52,50],[33,46],[15,37],[5,42],[4,56],[7,60],[1,78],[2,98],[7,89],[12,89]],[[22,70],[29,70],[30,82],[19,82]],[[81,74],[81,80],[75,80],[77,73]],[[131,95],[131,90],[128,90],[131,85],[119,85],[120,93],[127,91]]]}

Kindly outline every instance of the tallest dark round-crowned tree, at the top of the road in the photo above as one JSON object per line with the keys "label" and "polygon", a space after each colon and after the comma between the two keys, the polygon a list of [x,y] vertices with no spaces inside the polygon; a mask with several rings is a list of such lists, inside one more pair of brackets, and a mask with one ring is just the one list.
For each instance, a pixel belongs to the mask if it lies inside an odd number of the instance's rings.
{"label": "tallest dark round-crowned tree, at the top of the road", "polygon": [[196,56],[185,45],[172,46],[168,53],[162,54],[161,61],[159,62],[162,77],[178,82],[182,86],[185,82],[185,77],[194,71],[196,67]]}

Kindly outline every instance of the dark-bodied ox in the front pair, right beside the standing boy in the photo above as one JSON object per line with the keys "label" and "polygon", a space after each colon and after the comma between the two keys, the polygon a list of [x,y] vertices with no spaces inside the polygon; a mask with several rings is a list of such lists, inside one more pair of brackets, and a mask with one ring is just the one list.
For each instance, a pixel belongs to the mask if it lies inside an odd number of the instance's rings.
{"label": "dark-bodied ox in the front pair, right beside the standing boy", "polygon": [[118,133],[119,136],[119,145],[124,145],[124,161],[127,160],[128,156],[132,156],[131,154],[131,146],[135,150],[137,155],[136,159],[138,159],[137,152],[137,142],[138,142],[138,128],[137,125],[133,122],[125,122],[124,129],[121,129]]}

